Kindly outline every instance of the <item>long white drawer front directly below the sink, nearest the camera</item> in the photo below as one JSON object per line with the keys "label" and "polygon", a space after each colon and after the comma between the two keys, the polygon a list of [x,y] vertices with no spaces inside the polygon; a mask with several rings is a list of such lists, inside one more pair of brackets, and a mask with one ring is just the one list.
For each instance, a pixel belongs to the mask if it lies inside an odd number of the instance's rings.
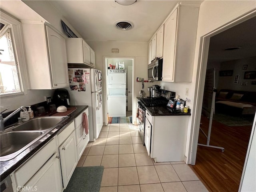
{"label": "long white drawer front directly below the sink, nearest the camera", "polygon": [[18,170],[14,172],[16,186],[24,186],[30,178],[47,162],[56,150],[57,141],[55,137],[46,144],[30,160],[25,162]]}

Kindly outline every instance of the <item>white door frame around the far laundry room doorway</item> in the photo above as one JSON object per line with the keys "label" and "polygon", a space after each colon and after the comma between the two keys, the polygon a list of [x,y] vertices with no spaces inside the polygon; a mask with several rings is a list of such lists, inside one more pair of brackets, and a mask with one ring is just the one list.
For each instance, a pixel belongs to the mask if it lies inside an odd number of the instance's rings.
{"label": "white door frame around the far laundry room doorway", "polygon": [[[104,112],[105,112],[105,126],[108,125],[108,100],[107,100],[107,79],[106,79],[106,76],[107,76],[107,66],[106,66],[106,59],[130,59],[132,60],[132,104],[134,103],[134,98],[135,98],[135,95],[134,95],[134,88],[135,88],[135,85],[134,85],[134,76],[135,76],[135,70],[134,70],[134,62],[135,62],[135,57],[114,57],[114,56],[103,56],[103,78],[102,80],[104,81],[102,84],[104,84],[104,88],[103,88],[103,100],[105,101],[103,103],[104,105]],[[132,110],[132,114],[134,113],[134,111]],[[133,115],[132,115],[133,116]]]}

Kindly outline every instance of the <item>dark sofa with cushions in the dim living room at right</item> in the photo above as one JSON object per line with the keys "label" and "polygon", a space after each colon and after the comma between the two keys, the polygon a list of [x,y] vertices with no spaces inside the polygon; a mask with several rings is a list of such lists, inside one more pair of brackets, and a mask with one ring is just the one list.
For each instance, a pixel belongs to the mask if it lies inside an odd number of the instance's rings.
{"label": "dark sofa with cushions in the dim living room at right", "polygon": [[216,94],[215,110],[232,116],[254,115],[256,92],[221,89]]}

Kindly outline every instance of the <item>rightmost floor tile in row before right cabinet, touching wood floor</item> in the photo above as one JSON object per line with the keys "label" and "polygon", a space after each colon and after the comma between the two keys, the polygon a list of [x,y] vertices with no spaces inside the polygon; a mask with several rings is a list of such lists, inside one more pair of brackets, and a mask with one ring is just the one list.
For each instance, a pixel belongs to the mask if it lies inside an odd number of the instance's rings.
{"label": "rightmost floor tile in row before right cabinet, touching wood floor", "polygon": [[199,180],[193,170],[187,164],[173,164],[172,167],[181,181]]}

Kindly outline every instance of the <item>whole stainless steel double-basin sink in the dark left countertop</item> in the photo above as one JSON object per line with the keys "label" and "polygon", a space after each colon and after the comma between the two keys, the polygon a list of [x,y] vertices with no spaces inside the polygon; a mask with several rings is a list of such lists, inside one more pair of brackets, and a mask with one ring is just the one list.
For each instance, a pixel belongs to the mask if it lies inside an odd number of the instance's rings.
{"label": "whole stainless steel double-basin sink in the dark left countertop", "polygon": [[0,161],[11,160],[69,117],[39,117],[0,134]]}

